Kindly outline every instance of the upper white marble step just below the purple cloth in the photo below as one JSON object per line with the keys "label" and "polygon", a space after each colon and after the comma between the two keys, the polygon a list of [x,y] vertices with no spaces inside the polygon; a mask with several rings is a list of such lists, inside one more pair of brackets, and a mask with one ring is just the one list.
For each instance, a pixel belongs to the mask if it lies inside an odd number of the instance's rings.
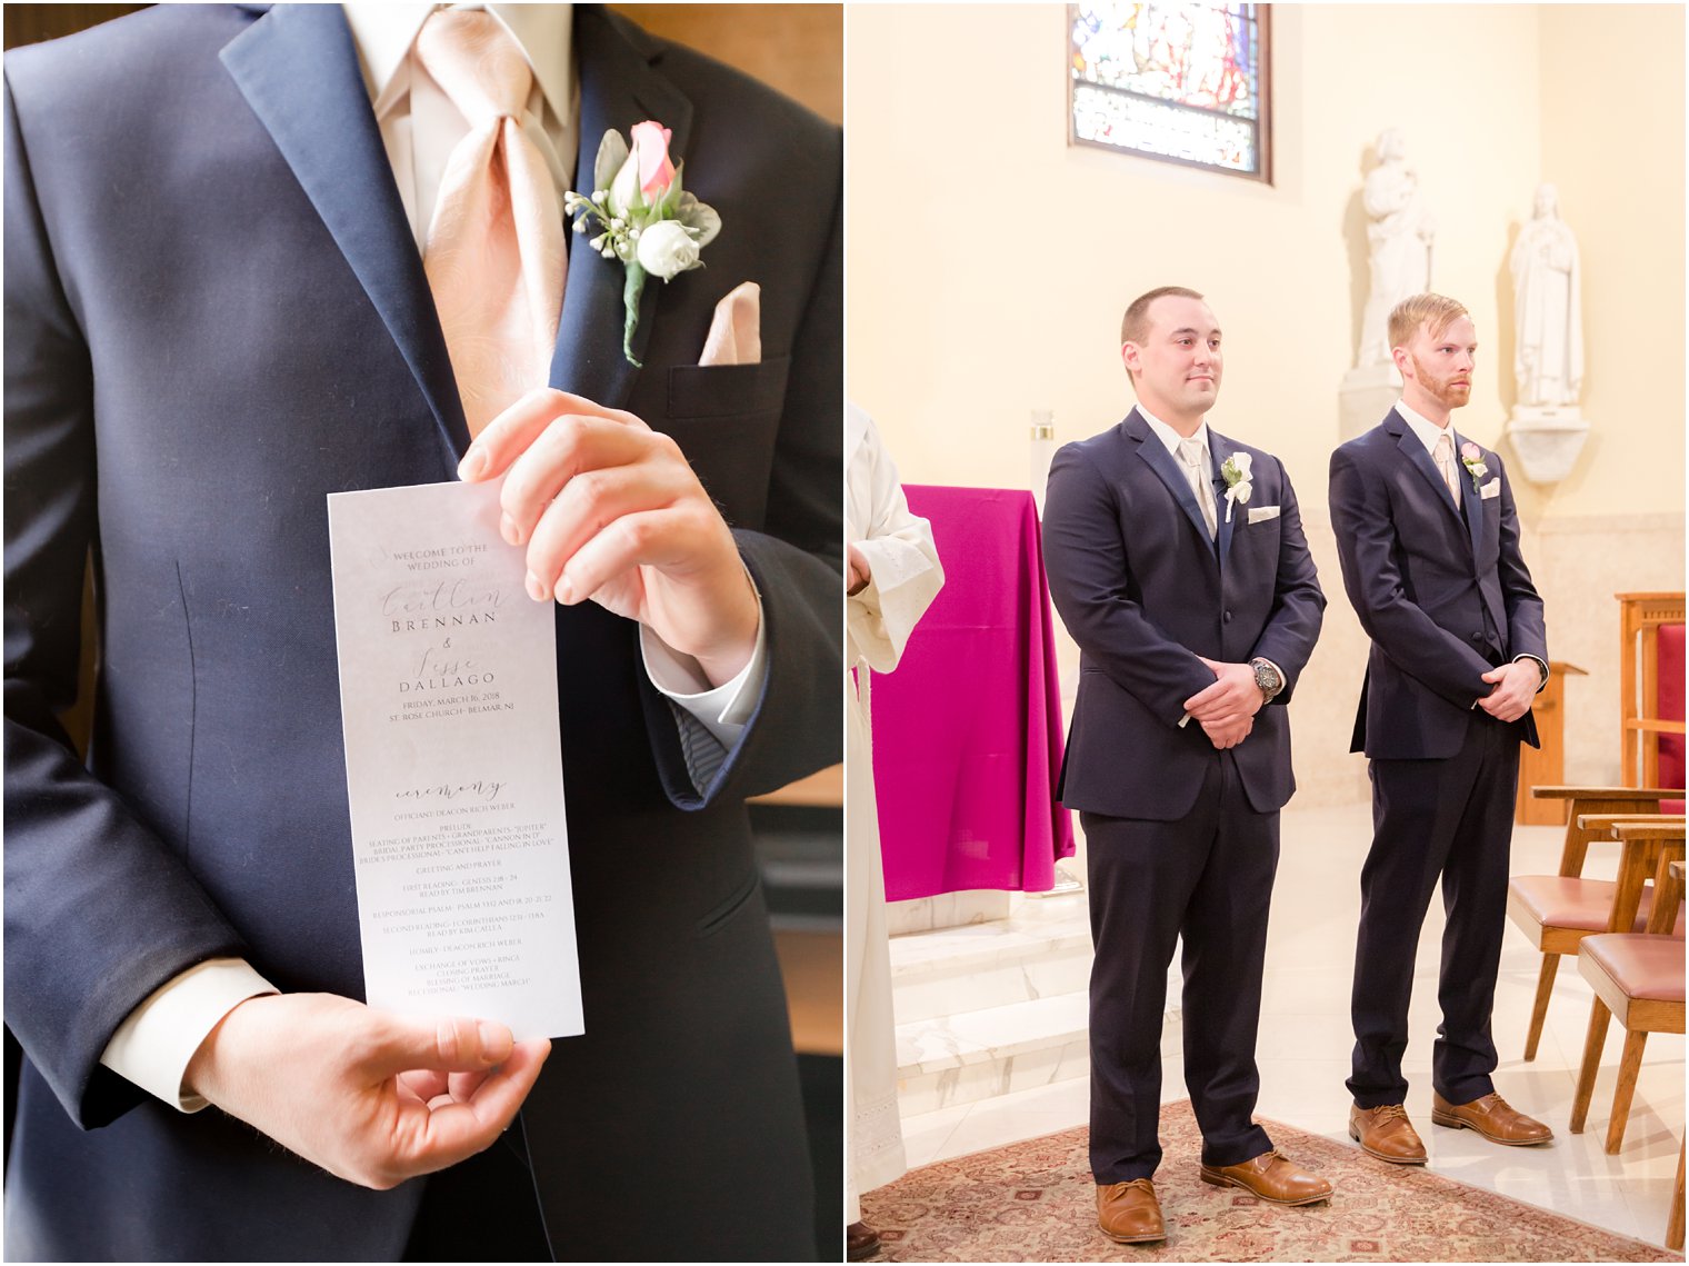
{"label": "upper white marble step just below the purple cloth", "polygon": [[890,950],[900,1024],[1083,994],[1091,975],[1086,898],[1017,898],[1008,918],[893,936]]}

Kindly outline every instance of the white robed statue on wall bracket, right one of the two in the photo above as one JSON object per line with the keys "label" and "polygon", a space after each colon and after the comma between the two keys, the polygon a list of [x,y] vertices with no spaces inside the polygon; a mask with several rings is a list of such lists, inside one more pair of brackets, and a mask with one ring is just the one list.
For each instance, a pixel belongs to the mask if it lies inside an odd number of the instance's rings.
{"label": "white robed statue on wall bracket, right one of the two", "polygon": [[1535,213],[1513,243],[1513,377],[1522,406],[1576,406],[1583,387],[1578,238],[1556,189],[1539,184]]}

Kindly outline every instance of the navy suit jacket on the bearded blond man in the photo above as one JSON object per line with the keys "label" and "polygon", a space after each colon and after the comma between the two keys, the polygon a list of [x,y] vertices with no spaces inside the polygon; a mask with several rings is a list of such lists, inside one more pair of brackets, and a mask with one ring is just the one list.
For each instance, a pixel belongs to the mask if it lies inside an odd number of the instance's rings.
{"label": "navy suit jacket on the bearded blond man", "polygon": [[[1547,663],[1513,490],[1502,458],[1481,451],[1483,483],[1500,490],[1480,495],[1463,467],[1461,509],[1395,409],[1331,455],[1343,587],[1371,637],[1351,752],[1454,756],[1478,715],[1473,703],[1493,690],[1481,676],[1520,654]],[[1535,747],[1535,717],[1527,712],[1517,725]]]}

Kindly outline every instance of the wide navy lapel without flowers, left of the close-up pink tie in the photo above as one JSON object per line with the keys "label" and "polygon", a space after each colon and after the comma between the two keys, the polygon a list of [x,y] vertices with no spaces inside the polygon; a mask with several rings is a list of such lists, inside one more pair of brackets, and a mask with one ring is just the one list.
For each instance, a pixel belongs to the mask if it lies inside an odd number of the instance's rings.
{"label": "wide navy lapel without flowers, left of the close-up pink tie", "polygon": [[339,5],[277,5],[221,59],[399,345],[441,443],[461,455],[470,433],[446,338]]}

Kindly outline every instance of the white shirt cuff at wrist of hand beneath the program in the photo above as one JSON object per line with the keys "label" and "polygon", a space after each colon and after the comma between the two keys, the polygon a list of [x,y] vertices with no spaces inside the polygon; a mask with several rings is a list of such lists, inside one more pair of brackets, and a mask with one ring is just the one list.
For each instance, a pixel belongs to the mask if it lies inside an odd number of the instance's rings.
{"label": "white shirt cuff at wrist of hand beneath the program", "polygon": [[279,992],[245,958],[208,958],[159,985],[130,1011],[100,1063],[155,1099],[198,1112],[206,1100],[187,1094],[182,1080],[199,1043],[248,997]]}

